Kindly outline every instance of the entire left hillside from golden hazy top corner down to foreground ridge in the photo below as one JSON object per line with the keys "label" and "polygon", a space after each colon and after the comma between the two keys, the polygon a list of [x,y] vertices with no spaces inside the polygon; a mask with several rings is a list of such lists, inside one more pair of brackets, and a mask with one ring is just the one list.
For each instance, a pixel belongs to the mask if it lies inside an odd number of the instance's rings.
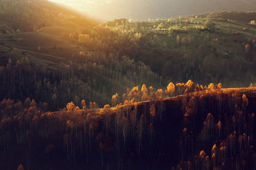
{"label": "entire left hillside from golden hazy top corner down to foreground ridge", "polygon": [[[1,99],[30,97],[48,103],[50,110],[82,99],[104,106],[116,92],[145,82],[154,87],[163,83],[148,66],[129,56],[101,52],[94,44],[78,41],[79,35],[91,34],[95,20],[43,0],[1,5],[1,22],[7,25],[0,34]],[[6,75],[16,77],[8,80]]]}

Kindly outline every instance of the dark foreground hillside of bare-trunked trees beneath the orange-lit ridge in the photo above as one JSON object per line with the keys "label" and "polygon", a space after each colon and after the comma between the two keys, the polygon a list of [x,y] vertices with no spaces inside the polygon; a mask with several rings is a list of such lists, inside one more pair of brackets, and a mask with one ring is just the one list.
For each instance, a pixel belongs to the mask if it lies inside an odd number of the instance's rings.
{"label": "dark foreground hillside of bare-trunked trees beneath the orange-lit ridge", "polygon": [[0,164],[4,169],[19,164],[26,169],[253,169],[255,104],[255,87],[202,90],[102,110],[70,103],[52,113],[35,101],[4,100]]}

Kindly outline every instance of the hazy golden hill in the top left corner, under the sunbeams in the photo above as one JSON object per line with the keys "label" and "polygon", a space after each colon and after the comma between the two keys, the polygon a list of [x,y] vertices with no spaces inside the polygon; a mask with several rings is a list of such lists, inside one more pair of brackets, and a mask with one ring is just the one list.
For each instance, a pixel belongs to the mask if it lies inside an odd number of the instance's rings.
{"label": "hazy golden hill in the top left corner, under the sunbeams", "polygon": [[0,32],[33,31],[45,26],[81,27],[89,32],[98,23],[77,11],[47,0],[0,0]]}

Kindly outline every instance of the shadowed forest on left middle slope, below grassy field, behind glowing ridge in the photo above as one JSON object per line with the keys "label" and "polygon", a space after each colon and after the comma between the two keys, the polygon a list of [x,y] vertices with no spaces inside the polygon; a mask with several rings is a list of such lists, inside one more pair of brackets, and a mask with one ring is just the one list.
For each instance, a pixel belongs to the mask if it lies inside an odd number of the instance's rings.
{"label": "shadowed forest on left middle slope, below grassy field, behind glowing ridge", "polygon": [[[161,85],[161,77],[145,64],[136,64],[125,56],[120,61],[111,55],[103,57],[91,57],[81,65],[61,62],[54,69],[35,66],[28,58],[15,62],[9,59],[0,67],[0,97],[16,101],[30,97],[37,103],[47,103],[50,110],[58,110],[70,101],[79,104],[82,99],[88,104],[98,101],[102,106],[111,103],[109,96],[145,81]],[[128,71],[130,67],[134,72]]]}

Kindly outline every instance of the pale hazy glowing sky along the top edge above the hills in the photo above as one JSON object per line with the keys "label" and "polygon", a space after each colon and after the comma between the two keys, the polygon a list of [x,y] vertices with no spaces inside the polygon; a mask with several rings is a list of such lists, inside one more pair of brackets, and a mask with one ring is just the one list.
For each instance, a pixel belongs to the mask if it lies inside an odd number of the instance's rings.
{"label": "pale hazy glowing sky along the top edge above the hills", "polygon": [[210,11],[255,11],[256,0],[49,0],[101,20],[170,18]]}

